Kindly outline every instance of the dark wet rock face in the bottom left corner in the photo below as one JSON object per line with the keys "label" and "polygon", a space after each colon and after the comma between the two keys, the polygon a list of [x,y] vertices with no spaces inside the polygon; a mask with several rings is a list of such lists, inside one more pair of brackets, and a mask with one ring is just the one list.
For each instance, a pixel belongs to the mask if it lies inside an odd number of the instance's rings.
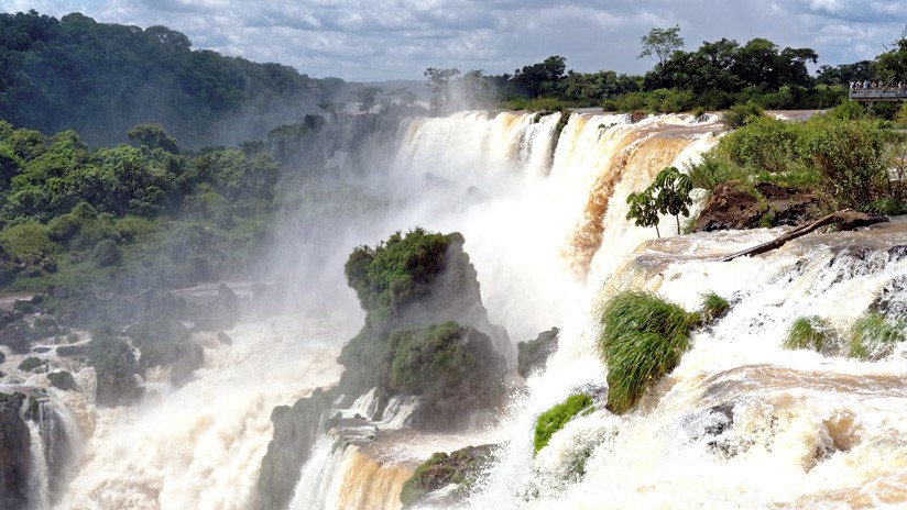
{"label": "dark wet rock face in the bottom left corner", "polygon": [[19,414],[25,396],[0,393],[0,508],[28,508],[31,437]]}

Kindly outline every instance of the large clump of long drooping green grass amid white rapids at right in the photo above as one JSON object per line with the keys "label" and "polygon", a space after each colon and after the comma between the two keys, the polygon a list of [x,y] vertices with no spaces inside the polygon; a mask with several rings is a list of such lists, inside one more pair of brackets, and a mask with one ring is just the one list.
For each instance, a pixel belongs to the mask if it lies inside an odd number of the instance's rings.
{"label": "large clump of long drooping green grass amid white rapids at right", "polygon": [[701,320],[648,292],[611,298],[598,341],[608,366],[608,408],[619,414],[632,409],[651,384],[677,366]]}

